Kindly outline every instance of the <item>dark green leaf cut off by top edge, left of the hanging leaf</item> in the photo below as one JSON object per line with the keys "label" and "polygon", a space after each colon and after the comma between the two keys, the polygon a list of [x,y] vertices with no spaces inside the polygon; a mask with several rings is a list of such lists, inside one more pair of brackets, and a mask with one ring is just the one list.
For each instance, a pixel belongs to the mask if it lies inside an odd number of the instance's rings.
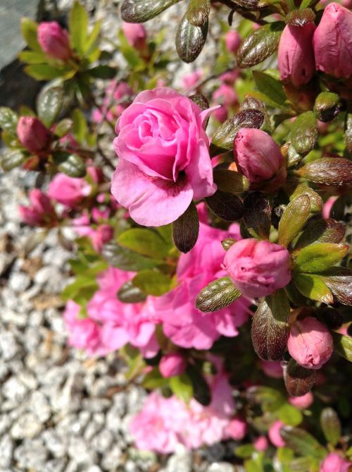
{"label": "dark green leaf cut off by top edge, left of the hanging leaf", "polygon": [[144,23],[180,0],[125,0],[121,6],[122,20],[127,23]]}

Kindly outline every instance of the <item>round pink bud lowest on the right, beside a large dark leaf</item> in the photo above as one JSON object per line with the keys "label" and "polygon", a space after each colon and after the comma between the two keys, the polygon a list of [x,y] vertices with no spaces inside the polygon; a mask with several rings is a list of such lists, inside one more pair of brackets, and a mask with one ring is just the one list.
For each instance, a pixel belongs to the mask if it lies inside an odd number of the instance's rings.
{"label": "round pink bud lowest on the right, beside a large dark leaf", "polygon": [[290,355],[307,369],[320,369],[329,361],[334,350],[329,329],[316,318],[308,316],[291,326],[287,349]]}

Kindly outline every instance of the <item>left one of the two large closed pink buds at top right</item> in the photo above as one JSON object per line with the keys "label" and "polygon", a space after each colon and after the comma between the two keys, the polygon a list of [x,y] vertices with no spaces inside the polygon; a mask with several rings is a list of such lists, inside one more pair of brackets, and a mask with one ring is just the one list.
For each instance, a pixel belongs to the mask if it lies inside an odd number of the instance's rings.
{"label": "left one of the two large closed pink buds at top right", "polygon": [[280,37],[277,56],[280,78],[290,80],[295,87],[308,83],[315,73],[314,31],[314,23],[286,25]]}

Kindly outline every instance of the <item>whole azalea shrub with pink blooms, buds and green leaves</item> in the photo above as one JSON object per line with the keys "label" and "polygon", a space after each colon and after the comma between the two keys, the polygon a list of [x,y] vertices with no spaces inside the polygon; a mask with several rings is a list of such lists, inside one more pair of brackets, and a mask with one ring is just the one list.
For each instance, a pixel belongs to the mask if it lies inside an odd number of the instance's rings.
{"label": "whole azalea shrub with pink blooms, buds and green leaves", "polygon": [[[118,351],[149,392],[136,447],[348,471],[352,13],[191,0],[178,58],[142,25],[175,3],[122,2],[118,64],[79,1],[68,30],[24,18],[20,60],[46,83],[35,110],[0,108],[1,166],[34,173],[20,217],[73,251],[68,343]],[[212,27],[213,63],[176,88]]]}

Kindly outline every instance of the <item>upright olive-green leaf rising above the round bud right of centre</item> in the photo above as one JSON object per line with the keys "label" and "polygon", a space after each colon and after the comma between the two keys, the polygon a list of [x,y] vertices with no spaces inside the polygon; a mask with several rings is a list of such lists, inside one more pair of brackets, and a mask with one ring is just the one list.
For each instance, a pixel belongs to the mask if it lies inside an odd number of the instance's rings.
{"label": "upright olive-green leaf rising above the round bud right of centre", "polygon": [[287,248],[298,236],[310,214],[310,198],[304,193],[298,195],[287,205],[279,221],[279,244]]}

